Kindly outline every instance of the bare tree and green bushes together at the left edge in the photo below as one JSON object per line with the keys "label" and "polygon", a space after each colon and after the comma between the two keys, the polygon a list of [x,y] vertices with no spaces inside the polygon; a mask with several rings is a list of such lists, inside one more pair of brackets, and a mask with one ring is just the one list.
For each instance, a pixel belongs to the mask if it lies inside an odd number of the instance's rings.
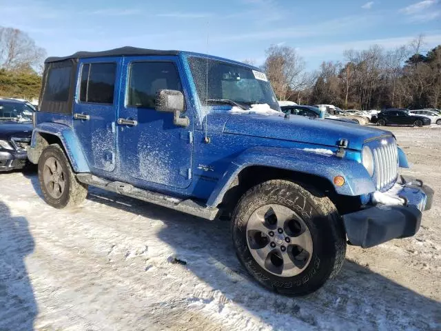
{"label": "bare tree and green bushes together at the left edge", "polygon": [[28,34],[0,26],[0,97],[39,97],[45,50]]}

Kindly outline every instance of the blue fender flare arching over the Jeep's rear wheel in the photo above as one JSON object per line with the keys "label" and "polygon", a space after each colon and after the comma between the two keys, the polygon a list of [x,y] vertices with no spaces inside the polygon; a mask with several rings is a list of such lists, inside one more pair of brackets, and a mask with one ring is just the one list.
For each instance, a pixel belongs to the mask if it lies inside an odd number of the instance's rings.
{"label": "blue fender flare arching over the Jeep's rear wheel", "polygon": [[74,172],[90,172],[88,161],[85,159],[74,131],[69,126],[60,123],[39,123],[34,128],[28,150],[28,158],[32,163],[38,163],[42,152],[37,146],[37,137],[40,133],[52,134],[60,139]]}

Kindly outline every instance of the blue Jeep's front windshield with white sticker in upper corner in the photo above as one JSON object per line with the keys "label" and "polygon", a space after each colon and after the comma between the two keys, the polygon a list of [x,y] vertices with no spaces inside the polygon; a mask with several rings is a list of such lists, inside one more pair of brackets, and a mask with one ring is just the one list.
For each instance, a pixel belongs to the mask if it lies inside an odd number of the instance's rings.
{"label": "blue Jeep's front windshield with white sticker in upper corner", "polygon": [[189,57],[189,65],[202,105],[235,106],[236,103],[249,109],[254,104],[266,103],[271,109],[280,111],[271,84],[263,72],[202,57]]}

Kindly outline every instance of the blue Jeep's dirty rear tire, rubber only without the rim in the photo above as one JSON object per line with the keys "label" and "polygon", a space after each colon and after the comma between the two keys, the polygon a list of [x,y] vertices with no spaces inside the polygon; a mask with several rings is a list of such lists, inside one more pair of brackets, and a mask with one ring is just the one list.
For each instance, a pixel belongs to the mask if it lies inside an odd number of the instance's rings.
{"label": "blue Jeep's dirty rear tire, rubber only without the rim", "polygon": [[[53,197],[43,181],[43,170],[45,163],[49,158],[56,159],[62,168],[65,186],[60,197]],[[48,146],[41,153],[38,164],[38,174],[44,200],[48,205],[51,205],[54,208],[62,209],[74,207],[82,203],[88,195],[88,185],[85,185],[76,179],[72,166],[65,156],[65,152],[57,143]]]}

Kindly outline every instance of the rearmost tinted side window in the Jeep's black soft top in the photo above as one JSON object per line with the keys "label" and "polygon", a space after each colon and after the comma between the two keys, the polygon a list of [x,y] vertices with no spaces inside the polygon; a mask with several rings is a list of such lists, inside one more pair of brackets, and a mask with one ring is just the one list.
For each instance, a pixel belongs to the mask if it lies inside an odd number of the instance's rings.
{"label": "rearmost tinted side window in the Jeep's black soft top", "polygon": [[44,89],[43,99],[45,101],[68,101],[71,72],[72,66],[50,68]]}

